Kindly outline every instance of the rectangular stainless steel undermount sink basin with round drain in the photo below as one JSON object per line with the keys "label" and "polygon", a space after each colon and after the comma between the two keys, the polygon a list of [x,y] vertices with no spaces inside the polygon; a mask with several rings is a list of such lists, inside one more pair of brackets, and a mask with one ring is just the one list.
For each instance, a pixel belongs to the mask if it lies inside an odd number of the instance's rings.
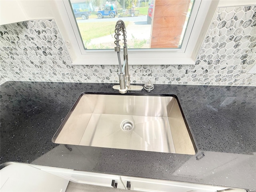
{"label": "rectangular stainless steel undermount sink basin with round drain", "polygon": [[196,151],[174,95],[84,92],[52,141],[179,154]]}

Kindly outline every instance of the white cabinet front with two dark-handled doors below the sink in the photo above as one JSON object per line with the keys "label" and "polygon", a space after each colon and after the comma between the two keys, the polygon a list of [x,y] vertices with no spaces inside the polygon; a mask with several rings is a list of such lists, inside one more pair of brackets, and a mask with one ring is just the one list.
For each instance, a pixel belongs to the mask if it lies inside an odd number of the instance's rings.
{"label": "white cabinet front with two dark-handled doors below the sink", "polygon": [[115,184],[117,184],[116,187],[120,189],[143,192],[216,192],[217,190],[227,189],[225,187],[192,184],[186,182],[176,182],[169,180],[148,179],[130,176],[117,176],[111,174],[83,172],[46,166],[32,166],[76,183],[105,187],[114,186],[114,188]]}

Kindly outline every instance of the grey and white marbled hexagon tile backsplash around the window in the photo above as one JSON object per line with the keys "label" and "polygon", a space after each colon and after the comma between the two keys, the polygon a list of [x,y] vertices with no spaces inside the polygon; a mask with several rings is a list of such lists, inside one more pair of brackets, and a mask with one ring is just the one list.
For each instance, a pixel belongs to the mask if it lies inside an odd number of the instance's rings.
{"label": "grey and white marbled hexagon tile backsplash around the window", "polygon": [[[56,22],[0,26],[0,82],[118,82],[117,65],[72,65]],[[253,85],[256,6],[218,8],[194,65],[131,65],[132,83]]]}

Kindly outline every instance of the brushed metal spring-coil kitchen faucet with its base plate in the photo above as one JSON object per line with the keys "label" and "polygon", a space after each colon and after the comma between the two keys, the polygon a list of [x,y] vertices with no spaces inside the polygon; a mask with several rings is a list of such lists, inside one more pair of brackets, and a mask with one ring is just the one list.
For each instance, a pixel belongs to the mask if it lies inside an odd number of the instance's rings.
{"label": "brushed metal spring-coil kitchen faucet with its base plate", "polygon": [[[119,45],[119,36],[121,35],[120,32],[122,31],[122,36],[124,40],[124,64],[122,66],[121,58],[120,58],[120,45]],[[128,90],[134,90],[134,91],[140,91],[143,89],[142,86],[139,85],[131,85],[130,84],[130,74],[129,74],[129,68],[128,68],[128,51],[127,51],[127,40],[126,40],[126,27],[124,24],[124,21],[118,20],[116,22],[116,28],[115,28],[115,51],[117,52],[118,57],[118,63],[119,63],[119,85],[114,85],[114,90],[119,90],[120,93],[126,93]]]}

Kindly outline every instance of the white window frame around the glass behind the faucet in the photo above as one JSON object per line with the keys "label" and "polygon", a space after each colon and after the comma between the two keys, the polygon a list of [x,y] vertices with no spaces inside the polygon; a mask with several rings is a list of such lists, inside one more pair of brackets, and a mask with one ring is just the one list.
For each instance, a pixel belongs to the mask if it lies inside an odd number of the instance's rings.
{"label": "white window frame around the glass behind the faucet", "polygon": [[[72,57],[73,65],[118,65],[113,50],[84,50],[83,42],[68,0],[56,1],[62,22],[66,29],[65,43]],[[195,0],[182,47],[179,49],[128,49],[130,65],[191,65],[208,30],[218,1]],[[211,7],[211,8],[210,8]],[[113,29],[114,30],[114,29]]]}

